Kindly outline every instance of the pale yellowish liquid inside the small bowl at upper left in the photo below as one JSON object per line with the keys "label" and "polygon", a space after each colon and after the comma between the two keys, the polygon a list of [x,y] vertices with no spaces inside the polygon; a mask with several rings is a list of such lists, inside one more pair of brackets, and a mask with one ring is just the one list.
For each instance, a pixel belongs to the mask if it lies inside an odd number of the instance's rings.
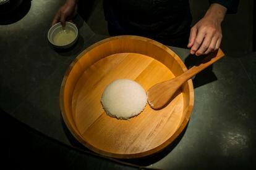
{"label": "pale yellowish liquid inside the small bowl at upper left", "polygon": [[53,38],[54,44],[57,46],[65,46],[75,40],[75,32],[72,30],[61,30]]}

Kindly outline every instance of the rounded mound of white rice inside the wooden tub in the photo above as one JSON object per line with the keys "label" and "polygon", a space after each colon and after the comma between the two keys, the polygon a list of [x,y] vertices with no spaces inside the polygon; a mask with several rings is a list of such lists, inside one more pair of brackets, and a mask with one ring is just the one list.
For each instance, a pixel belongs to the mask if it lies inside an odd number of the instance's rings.
{"label": "rounded mound of white rice inside the wooden tub", "polygon": [[145,108],[147,95],[142,86],[130,79],[110,83],[101,96],[101,104],[109,116],[129,119]]}

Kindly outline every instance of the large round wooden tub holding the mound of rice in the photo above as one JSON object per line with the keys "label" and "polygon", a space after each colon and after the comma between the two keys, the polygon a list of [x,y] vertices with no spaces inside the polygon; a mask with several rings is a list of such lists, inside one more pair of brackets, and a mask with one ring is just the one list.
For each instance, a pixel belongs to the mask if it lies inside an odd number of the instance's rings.
{"label": "large round wooden tub holding the mound of rice", "polygon": [[186,70],[173,51],[151,39],[117,36],[97,42],[74,60],[64,76],[62,117],[79,142],[101,155],[139,158],[160,152],[190,118],[194,105],[191,80],[163,110],[147,105],[140,115],[128,120],[106,115],[101,94],[115,79],[132,79],[147,91]]}

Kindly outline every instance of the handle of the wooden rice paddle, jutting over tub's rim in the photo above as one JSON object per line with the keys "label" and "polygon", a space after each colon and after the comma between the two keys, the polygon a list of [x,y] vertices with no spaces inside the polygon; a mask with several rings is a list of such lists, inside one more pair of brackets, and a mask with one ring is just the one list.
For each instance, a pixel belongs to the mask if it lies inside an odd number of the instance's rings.
{"label": "handle of the wooden rice paddle, jutting over tub's rim", "polygon": [[186,73],[179,76],[180,81],[185,83],[187,80],[197,75],[197,73],[209,67],[210,65],[212,65],[213,63],[221,59],[222,57],[224,57],[224,53],[221,49],[218,49],[217,52],[211,53],[210,55],[205,57],[205,59],[203,59],[200,65],[195,65],[191,67],[189,70],[186,71]]}

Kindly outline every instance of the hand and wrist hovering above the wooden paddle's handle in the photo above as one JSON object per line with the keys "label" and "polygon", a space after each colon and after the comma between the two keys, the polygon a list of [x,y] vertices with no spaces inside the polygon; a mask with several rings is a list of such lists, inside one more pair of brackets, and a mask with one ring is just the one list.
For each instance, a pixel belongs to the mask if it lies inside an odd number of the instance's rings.
{"label": "hand and wrist hovering above the wooden paddle's handle", "polygon": [[205,16],[190,30],[190,54],[209,54],[217,50],[221,44],[221,22],[226,14],[226,7],[220,4],[211,4]]}

